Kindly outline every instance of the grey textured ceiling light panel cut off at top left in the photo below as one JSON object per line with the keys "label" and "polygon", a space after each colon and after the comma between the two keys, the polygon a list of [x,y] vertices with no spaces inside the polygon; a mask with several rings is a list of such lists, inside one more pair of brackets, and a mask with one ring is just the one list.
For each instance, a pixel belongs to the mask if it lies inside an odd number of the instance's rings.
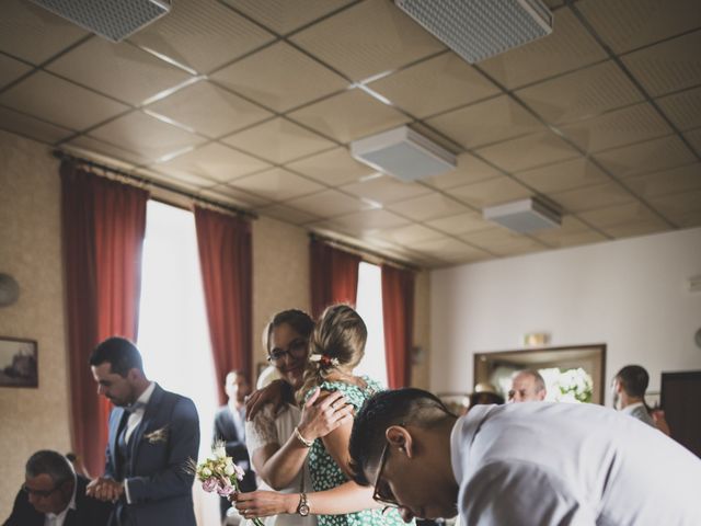
{"label": "grey textured ceiling light panel cut off at top left", "polygon": [[171,10],[171,0],[32,0],[112,42],[120,42]]}

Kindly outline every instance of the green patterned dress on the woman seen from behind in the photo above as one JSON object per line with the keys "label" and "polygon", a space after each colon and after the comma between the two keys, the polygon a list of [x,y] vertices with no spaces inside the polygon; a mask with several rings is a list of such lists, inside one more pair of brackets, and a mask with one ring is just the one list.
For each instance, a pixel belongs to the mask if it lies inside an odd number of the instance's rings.
{"label": "green patterned dress on the woman seen from behind", "polygon": [[[367,376],[361,377],[367,387],[360,388],[344,381],[324,381],[320,387],[326,391],[341,391],[348,403],[353,404],[356,412],[363,403],[382,387]],[[307,398],[313,392],[307,393]],[[309,451],[309,471],[314,491],[324,491],[336,488],[348,478],[341,470],[333,457],[326,451],[321,438],[314,442]],[[318,515],[319,526],[403,526],[404,522],[397,510],[382,515],[381,510],[367,510],[365,512],[348,513],[346,515]],[[413,523],[412,523],[413,524]]]}

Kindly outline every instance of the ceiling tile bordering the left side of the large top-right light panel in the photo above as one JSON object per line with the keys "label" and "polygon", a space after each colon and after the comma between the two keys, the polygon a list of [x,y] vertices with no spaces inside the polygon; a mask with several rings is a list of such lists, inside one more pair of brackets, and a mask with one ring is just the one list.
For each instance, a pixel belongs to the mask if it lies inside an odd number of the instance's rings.
{"label": "ceiling tile bordering the left side of the large top-right light panel", "polygon": [[368,0],[297,33],[291,41],[355,81],[445,49],[384,0]]}

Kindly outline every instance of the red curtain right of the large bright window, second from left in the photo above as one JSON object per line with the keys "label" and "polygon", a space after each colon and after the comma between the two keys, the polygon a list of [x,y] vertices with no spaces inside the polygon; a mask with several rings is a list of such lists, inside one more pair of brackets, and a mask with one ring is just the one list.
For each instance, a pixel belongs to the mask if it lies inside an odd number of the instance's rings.
{"label": "red curtain right of the large bright window, second from left", "polygon": [[[215,370],[222,386],[229,370],[253,373],[251,222],[196,206],[195,225]],[[219,400],[226,402],[223,387]]]}

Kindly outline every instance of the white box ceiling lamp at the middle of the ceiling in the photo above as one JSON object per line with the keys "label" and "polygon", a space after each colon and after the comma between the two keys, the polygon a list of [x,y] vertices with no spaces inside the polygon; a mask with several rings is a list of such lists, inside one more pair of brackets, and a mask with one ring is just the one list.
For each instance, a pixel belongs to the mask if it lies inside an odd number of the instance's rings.
{"label": "white box ceiling lamp at the middle of the ceiling", "polygon": [[354,140],[350,155],[403,181],[437,175],[457,167],[453,153],[407,126]]}

